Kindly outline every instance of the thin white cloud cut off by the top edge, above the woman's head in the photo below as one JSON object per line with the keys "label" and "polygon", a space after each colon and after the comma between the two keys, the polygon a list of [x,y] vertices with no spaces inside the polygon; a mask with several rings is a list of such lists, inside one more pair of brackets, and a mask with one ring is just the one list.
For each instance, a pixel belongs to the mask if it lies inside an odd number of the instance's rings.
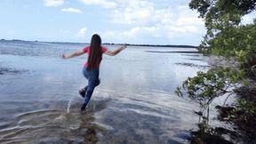
{"label": "thin white cloud cut off by the top edge, above the woman's head", "polygon": [[116,7],[116,3],[110,2],[109,0],[79,0],[79,1],[87,5],[100,5],[101,7],[104,7],[107,9]]}

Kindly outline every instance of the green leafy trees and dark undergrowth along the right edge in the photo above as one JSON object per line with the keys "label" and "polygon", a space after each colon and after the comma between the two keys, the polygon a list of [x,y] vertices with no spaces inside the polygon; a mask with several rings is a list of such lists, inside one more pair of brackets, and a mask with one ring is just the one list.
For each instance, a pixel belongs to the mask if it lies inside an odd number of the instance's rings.
{"label": "green leafy trees and dark undergrowth along the right edge", "polygon": [[[191,0],[189,7],[199,12],[205,20],[207,32],[198,48],[199,52],[221,56],[234,63],[215,66],[207,72],[197,72],[195,77],[188,77],[177,88],[177,95],[197,101],[202,108],[197,114],[203,117],[204,122],[198,124],[198,131],[191,132],[190,141],[212,144],[255,143],[256,19],[252,24],[241,23],[244,15],[255,11],[255,0]],[[212,100],[227,95],[236,96],[236,102],[217,106],[218,119],[235,124],[237,129],[234,131],[208,124]]]}

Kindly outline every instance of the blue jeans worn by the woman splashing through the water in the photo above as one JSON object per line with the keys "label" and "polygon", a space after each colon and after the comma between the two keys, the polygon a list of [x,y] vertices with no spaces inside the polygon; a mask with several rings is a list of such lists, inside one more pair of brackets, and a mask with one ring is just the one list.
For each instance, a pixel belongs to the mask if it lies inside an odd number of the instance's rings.
{"label": "blue jeans worn by the woman splashing through the water", "polygon": [[84,87],[85,96],[84,96],[84,101],[82,105],[82,110],[84,110],[89,102],[89,100],[92,97],[92,92],[96,86],[100,84],[100,79],[99,79],[99,69],[92,69],[92,70],[87,70],[86,67],[83,68],[83,74],[86,79],[88,79],[88,85]]}

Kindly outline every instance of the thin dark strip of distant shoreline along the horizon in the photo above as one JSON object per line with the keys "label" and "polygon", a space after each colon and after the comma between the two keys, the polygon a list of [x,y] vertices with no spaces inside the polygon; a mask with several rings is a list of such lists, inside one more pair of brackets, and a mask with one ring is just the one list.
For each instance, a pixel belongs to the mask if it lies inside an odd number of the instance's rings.
{"label": "thin dark strip of distant shoreline along the horizon", "polygon": [[[72,42],[43,42],[43,41],[27,41],[27,40],[20,40],[20,39],[12,39],[12,40],[5,40],[1,39],[0,41],[20,41],[20,42],[40,42],[40,43],[52,43],[52,44],[88,44],[88,43],[72,43]],[[122,44],[115,44],[115,43],[103,43],[105,45],[122,45]],[[180,48],[197,48],[198,46],[195,45],[186,45],[186,44],[126,44],[128,46],[150,46],[150,47],[180,47]]]}

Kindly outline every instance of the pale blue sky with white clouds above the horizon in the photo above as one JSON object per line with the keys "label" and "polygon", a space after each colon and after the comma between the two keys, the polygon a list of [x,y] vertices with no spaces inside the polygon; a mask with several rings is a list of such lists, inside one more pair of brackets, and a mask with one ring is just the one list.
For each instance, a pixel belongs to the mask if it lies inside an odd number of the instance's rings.
{"label": "pale blue sky with white clouds above the horizon", "polygon": [[[190,0],[1,0],[0,38],[44,42],[200,44]],[[246,16],[245,22],[252,21]]]}

